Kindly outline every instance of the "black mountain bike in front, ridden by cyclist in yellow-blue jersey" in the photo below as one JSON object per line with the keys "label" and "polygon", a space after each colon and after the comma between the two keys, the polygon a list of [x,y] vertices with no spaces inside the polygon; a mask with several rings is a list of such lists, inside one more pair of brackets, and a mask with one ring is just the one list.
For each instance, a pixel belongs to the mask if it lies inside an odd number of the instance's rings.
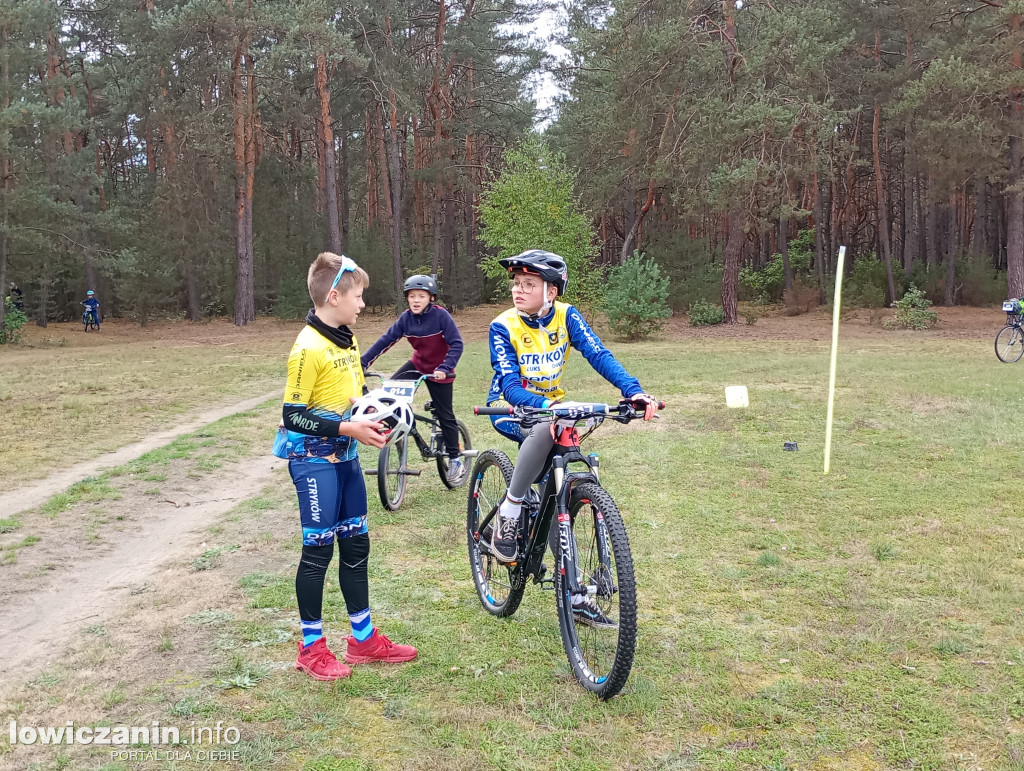
{"label": "black mountain bike in front, ridden by cyclist in yellow-blue jersey", "polygon": [[[659,403],[659,408],[664,403]],[[480,603],[488,613],[512,615],[532,577],[555,592],[562,645],[575,679],[599,698],[622,690],[633,667],[637,635],[637,595],[633,557],[626,525],[611,496],[601,486],[597,454],[584,455],[580,444],[605,420],[630,423],[643,411],[630,402],[570,402],[537,408],[475,408],[476,415],[506,416],[528,424],[554,420],[555,446],[524,501],[519,519],[517,556],[505,563],[490,551],[493,521],[512,480],[512,462],[499,449],[477,456],[467,502],[469,562]],[[585,425],[581,435],[578,426]],[[574,464],[579,471],[569,471]],[[552,523],[557,523],[552,527]],[[545,551],[551,547],[556,565],[546,577]],[[590,598],[616,628],[598,628],[573,612],[573,598]],[[579,609],[579,608],[578,608]]]}

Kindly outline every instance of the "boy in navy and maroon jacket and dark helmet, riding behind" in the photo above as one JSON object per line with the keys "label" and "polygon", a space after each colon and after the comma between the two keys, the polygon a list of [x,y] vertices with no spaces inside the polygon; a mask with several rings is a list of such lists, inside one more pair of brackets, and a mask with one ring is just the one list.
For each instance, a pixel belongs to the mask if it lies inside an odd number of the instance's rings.
{"label": "boy in navy and maroon jacket and dark helmet, riding behind", "polygon": [[441,436],[449,454],[447,480],[453,484],[462,481],[465,473],[459,454],[459,425],[455,410],[452,409],[452,384],[455,381],[455,367],[462,355],[462,335],[455,326],[452,314],[436,305],[437,282],[429,275],[411,275],[406,280],[404,311],[391,329],[385,332],[362,354],[362,369],[368,370],[374,361],[386,353],[401,338],[408,338],[413,346],[413,357],[398,368],[392,380],[419,378],[427,375],[427,390],[434,402],[437,422],[441,426]]}

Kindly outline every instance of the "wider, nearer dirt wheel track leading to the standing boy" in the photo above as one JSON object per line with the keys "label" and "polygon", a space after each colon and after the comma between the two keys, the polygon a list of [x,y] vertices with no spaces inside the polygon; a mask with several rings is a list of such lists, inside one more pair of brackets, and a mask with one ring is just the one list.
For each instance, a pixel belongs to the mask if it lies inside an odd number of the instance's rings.
{"label": "wider, nearer dirt wheel track leading to the standing boy", "polygon": [[[49,666],[88,624],[109,617],[132,595],[152,591],[167,563],[195,555],[210,538],[205,528],[251,498],[284,463],[261,456],[224,467],[196,483],[187,494],[176,494],[177,502],[147,506],[103,554],[85,559],[79,555],[49,579],[37,582],[22,575],[12,582],[28,591],[6,597],[0,605],[0,682],[4,689]],[[33,584],[40,588],[33,591]],[[45,658],[39,655],[43,643]]]}

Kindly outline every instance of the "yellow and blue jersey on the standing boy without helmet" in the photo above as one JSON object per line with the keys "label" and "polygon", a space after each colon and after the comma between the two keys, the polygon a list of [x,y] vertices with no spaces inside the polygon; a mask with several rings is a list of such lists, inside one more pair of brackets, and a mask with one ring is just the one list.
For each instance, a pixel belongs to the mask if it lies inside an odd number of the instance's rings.
{"label": "yellow and blue jersey on the standing boy without helmet", "polygon": [[[351,412],[349,397],[362,395],[362,383],[359,347],[354,338],[350,348],[342,348],[312,327],[304,327],[288,357],[285,387],[288,420],[307,430],[317,419],[332,422],[336,427]],[[311,436],[290,430],[287,425],[278,429],[273,443],[273,454],[279,458],[323,463],[349,461],[357,457],[357,442],[348,436]]]}

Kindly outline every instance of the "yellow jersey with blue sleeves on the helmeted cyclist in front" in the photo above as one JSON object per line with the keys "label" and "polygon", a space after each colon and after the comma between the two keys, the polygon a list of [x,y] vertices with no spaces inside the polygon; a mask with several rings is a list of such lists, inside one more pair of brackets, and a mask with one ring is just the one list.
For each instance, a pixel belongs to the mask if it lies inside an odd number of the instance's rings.
{"label": "yellow jersey with blue sleeves on the helmeted cyclist in front", "polygon": [[556,302],[536,322],[506,310],[490,323],[490,381],[487,403],[504,399],[515,406],[544,406],[565,395],[562,373],[569,347],[575,348],[624,397],[643,393],[636,378],[615,359],[572,305]]}

